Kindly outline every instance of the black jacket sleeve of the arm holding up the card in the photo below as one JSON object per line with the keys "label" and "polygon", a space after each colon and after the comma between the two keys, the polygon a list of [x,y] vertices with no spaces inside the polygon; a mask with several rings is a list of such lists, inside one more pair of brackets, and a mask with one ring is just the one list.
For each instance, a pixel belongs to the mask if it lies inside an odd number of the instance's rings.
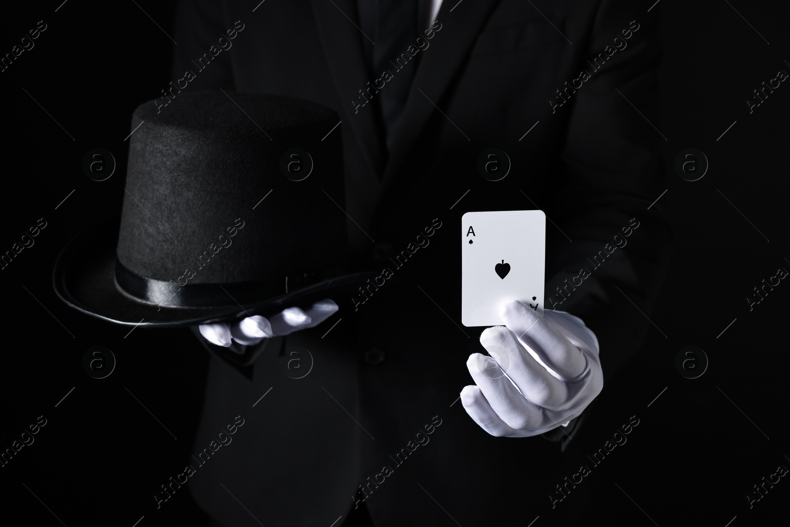
{"label": "black jacket sleeve of the arm holding up the card", "polygon": [[[667,188],[659,16],[633,9],[603,0],[592,21],[580,82],[556,109],[570,112],[566,178],[546,208],[564,234],[547,236],[545,307],[575,314],[596,333],[604,383],[641,347],[672,248],[672,228],[653,203]],[[605,62],[596,69],[599,54]]]}

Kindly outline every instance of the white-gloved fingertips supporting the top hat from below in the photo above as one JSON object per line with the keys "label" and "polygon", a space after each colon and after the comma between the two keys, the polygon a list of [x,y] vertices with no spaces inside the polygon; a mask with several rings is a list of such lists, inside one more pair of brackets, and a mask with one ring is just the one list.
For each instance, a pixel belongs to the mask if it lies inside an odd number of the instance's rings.
{"label": "white-gloved fingertips supporting the top hat from below", "polygon": [[266,319],[259,314],[246,317],[239,322],[216,322],[203,324],[200,333],[205,339],[218,346],[229,347],[231,338],[239,344],[254,345],[265,338],[281,337],[298,329],[318,326],[335,311],[340,309],[331,299],[323,299],[313,304],[307,313],[299,307],[288,307],[284,311]]}

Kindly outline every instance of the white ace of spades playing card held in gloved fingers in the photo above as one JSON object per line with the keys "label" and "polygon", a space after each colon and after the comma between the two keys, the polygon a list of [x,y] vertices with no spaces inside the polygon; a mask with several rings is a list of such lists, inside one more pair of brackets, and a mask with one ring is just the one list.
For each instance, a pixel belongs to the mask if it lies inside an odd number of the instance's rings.
{"label": "white ace of spades playing card held in gloved fingers", "polygon": [[543,313],[546,215],[499,210],[461,216],[461,323],[502,326],[499,311],[517,299]]}

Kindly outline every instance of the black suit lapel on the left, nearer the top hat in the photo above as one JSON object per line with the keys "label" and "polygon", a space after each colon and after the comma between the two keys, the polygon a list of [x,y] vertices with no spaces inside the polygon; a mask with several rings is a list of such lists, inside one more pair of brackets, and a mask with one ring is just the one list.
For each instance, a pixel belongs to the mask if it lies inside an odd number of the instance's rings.
{"label": "black suit lapel on the left, nearer the top hat", "polygon": [[310,3],[324,47],[326,64],[332,72],[340,100],[346,105],[344,113],[348,119],[344,119],[344,124],[351,126],[363,155],[376,175],[381,175],[382,152],[374,122],[374,108],[358,107],[357,113],[349,111],[354,108],[352,100],[359,98],[359,89],[365,88],[369,80],[360,44],[360,39],[366,37],[358,28],[355,0],[310,0]]}

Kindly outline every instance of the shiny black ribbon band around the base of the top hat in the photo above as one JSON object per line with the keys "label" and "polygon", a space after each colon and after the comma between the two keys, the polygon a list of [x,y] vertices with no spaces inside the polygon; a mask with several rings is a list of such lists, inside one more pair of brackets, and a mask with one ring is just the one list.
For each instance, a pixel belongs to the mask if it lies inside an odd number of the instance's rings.
{"label": "shiny black ribbon band around the base of the top hat", "polygon": [[143,303],[160,307],[220,307],[250,304],[272,298],[290,289],[294,291],[313,282],[337,276],[340,267],[318,273],[302,273],[280,279],[280,285],[263,282],[232,282],[228,284],[178,284],[142,277],[115,259],[115,284],[126,295]]}

